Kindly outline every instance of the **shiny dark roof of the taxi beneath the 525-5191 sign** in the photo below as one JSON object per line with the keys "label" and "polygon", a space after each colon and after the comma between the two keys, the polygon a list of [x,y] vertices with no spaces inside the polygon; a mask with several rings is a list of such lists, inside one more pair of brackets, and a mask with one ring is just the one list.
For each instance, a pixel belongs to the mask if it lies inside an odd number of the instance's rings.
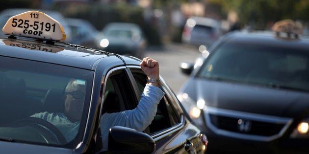
{"label": "shiny dark roof of the taxi beneath the 525-5191 sign", "polygon": [[[36,44],[48,51],[31,50],[28,47],[10,46],[9,44]],[[52,50],[52,51],[51,51]],[[23,54],[21,54],[23,53]],[[25,54],[26,53],[26,54]],[[83,69],[95,70],[99,61],[105,61],[114,66],[139,65],[137,58],[117,55],[101,50],[55,43],[54,45],[32,40],[0,38],[0,56],[40,61],[64,66],[73,66]]]}

